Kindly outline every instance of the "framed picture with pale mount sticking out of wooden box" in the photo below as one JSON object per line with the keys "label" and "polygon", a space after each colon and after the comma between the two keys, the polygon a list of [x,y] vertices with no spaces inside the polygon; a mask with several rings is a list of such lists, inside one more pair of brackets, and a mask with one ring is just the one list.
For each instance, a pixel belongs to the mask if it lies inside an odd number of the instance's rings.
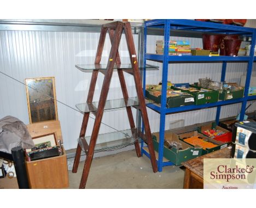
{"label": "framed picture with pale mount sticking out of wooden box", "polygon": [[57,145],[56,138],[57,138],[56,132],[44,134],[38,137],[33,137],[32,139],[35,147],[32,149],[26,149],[26,152],[31,152],[34,150],[45,149],[45,148],[50,148],[52,146],[56,146]]}

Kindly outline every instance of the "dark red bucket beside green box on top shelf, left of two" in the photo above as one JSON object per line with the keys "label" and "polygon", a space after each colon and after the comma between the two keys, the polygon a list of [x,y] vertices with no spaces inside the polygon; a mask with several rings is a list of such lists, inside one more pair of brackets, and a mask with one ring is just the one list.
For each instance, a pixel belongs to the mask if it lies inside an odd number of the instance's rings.
{"label": "dark red bucket beside green box on top shelf, left of two", "polygon": [[220,38],[222,38],[222,35],[203,34],[203,49],[210,51],[219,51]]}

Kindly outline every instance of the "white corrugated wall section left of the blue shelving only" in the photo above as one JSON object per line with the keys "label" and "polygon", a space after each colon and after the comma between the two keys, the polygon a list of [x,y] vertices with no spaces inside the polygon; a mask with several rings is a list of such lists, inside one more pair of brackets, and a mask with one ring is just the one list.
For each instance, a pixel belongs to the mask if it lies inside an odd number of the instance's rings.
{"label": "white corrugated wall section left of the blue shelving only", "polygon": [[[1,30],[0,70],[21,82],[24,82],[25,78],[54,76],[57,100],[75,108],[75,104],[86,101],[91,78],[91,73],[79,71],[75,68],[75,64],[94,63],[99,38],[100,33]],[[137,44],[138,35],[134,35],[134,39]],[[106,63],[109,51],[110,41],[107,36],[102,63]],[[119,53],[123,63],[130,62],[124,35],[121,39]],[[0,74],[0,80],[0,118],[13,115],[28,124],[25,85],[2,74]],[[133,77],[127,75],[126,82],[131,96],[136,96]],[[94,101],[98,101],[100,97],[102,83],[103,75],[99,73]],[[108,99],[121,97],[119,79],[117,72],[114,72]],[[75,148],[83,115],[61,103],[57,103],[57,109],[65,149]],[[94,115],[91,117],[94,118]],[[89,120],[86,136],[91,135],[93,121]],[[125,110],[104,113],[102,122],[118,130],[130,129]],[[100,133],[113,131],[101,125]]]}

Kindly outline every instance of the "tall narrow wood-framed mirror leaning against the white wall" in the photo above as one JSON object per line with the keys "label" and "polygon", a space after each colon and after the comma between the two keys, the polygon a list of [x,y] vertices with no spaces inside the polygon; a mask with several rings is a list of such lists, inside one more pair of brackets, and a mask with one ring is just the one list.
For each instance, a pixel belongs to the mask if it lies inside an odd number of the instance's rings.
{"label": "tall narrow wood-framed mirror leaning against the white wall", "polygon": [[54,77],[27,78],[25,82],[30,124],[58,120]]}

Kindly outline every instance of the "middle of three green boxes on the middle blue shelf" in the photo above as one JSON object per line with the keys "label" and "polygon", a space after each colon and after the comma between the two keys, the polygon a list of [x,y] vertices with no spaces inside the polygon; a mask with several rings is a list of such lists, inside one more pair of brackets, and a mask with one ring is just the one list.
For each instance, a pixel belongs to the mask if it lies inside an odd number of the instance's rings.
{"label": "middle of three green boxes on the middle blue shelf", "polygon": [[[177,86],[177,84],[175,84],[174,86]],[[197,90],[200,90],[200,91],[191,92],[189,90],[189,88],[191,87],[196,88]],[[179,87],[172,87],[172,89],[182,90],[185,93],[189,93],[193,95],[195,100],[195,105],[203,105],[206,103],[218,102],[219,91],[216,91],[216,90],[200,88],[200,87],[197,87],[196,85],[189,85],[188,89],[179,88]]]}

